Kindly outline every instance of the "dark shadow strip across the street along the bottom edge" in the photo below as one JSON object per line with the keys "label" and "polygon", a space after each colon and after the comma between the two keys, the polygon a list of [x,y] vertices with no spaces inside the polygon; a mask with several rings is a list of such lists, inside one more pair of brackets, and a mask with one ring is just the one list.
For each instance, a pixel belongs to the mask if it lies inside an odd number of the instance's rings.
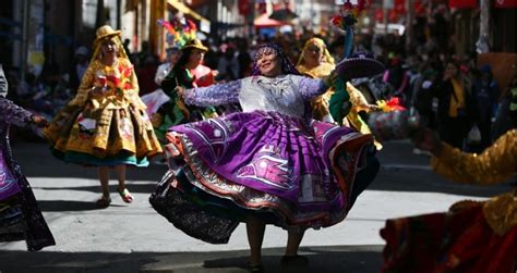
{"label": "dark shadow strip across the street along the bottom edge", "polygon": [[[370,273],[380,272],[382,266],[382,246],[303,247],[301,255],[309,258],[309,265],[291,270],[279,264],[282,251],[282,248],[263,249],[264,272]],[[40,252],[0,250],[0,264],[2,273],[227,273],[248,272],[248,250],[120,253],[62,252],[48,248]]]}

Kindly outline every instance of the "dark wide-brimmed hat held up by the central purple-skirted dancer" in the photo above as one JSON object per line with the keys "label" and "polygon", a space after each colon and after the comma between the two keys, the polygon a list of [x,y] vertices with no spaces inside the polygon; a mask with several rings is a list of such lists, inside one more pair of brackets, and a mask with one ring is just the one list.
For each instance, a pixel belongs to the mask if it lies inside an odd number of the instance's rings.
{"label": "dark wide-brimmed hat held up by the central purple-skirted dancer", "polygon": [[336,65],[336,72],[345,79],[371,77],[383,73],[384,64],[371,58],[348,58]]}

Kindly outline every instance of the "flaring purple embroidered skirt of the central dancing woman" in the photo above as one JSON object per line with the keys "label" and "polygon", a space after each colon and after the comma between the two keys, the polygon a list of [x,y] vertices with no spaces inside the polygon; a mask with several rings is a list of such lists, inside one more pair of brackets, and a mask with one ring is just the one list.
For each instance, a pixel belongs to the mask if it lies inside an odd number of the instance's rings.
{"label": "flaring purple embroidered skirt of the central dancing woman", "polygon": [[286,229],[342,221],[371,135],[277,112],[173,126],[151,203],[187,234],[227,243],[248,215]]}

